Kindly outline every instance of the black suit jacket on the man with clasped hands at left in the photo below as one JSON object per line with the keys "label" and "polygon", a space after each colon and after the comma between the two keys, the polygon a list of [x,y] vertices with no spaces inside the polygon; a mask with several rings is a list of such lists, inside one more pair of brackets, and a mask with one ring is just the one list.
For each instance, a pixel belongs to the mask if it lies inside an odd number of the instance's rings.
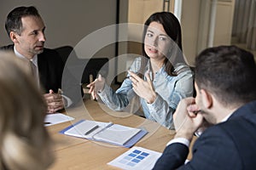
{"label": "black suit jacket on the man with clasped hands at left", "polygon": [[[0,49],[14,52],[14,45],[5,46]],[[61,82],[63,69],[64,63],[61,56],[55,50],[44,48],[44,52],[38,54],[38,72],[44,93],[49,93],[49,89],[57,93],[58,88],[61,88],[63,94],[70,98],[73,104],[76,104],[82,99],[84,95],[83,90],[80,82],[68,71],[65,71],[67,75],[65,76],[65,82]]]}

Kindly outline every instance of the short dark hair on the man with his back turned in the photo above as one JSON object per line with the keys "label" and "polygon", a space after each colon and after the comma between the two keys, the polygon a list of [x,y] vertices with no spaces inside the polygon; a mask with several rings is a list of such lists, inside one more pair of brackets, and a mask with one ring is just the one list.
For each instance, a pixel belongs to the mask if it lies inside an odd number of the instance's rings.
{"label": "short dark hair on the man with his back turned", "polygon": [[195,82],[223,105],[256,99],[256,65],[253,54],[236,46],[207,48],[195,59]]}

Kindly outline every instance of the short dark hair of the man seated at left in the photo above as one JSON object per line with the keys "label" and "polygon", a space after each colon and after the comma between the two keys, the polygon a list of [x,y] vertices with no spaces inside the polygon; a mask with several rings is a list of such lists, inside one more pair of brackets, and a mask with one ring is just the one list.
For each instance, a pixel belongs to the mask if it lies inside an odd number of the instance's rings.
{"label": "short dark hair of the man seated at left", "polygon": [[17,7],[14,8],[11,12],[9,12],[9,14],[7,15],[7,19],[5,21],[5,29],[8,33],[8,36],[10,31],[14,31],[19,35],[21,34],[23,27],[21,18],[26,16],[36,16],[41,18],[40,14],[38,14],[38,9],[35,8],[34,6]]}

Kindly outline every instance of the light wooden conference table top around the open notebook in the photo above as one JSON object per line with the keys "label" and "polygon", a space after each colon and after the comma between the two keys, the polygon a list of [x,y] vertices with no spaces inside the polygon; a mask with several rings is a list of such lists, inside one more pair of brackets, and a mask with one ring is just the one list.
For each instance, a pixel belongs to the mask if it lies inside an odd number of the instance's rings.
{"label": "light wooden conference table top around the open notebook", "polygon": [[[65,127],[81,119],[113,122],[128,127],[144,127],[148,134],[135,145],[159,152],[165,149],[166,144],[174,135],[174,131],[161,127],[156,122],[151,122],[128,112],[111,111],[105,105],[90,99],[84,100],[84,105],[65,113],[67,116],[73,116],[75,120],[47,127],[55,142],[55,163],[49,168],[52,170],[119,169],[109,166],[107,163],[129,150],[129,148],[79,139],[59,133]],[[189,155],[189,157],[191,156]]]}

